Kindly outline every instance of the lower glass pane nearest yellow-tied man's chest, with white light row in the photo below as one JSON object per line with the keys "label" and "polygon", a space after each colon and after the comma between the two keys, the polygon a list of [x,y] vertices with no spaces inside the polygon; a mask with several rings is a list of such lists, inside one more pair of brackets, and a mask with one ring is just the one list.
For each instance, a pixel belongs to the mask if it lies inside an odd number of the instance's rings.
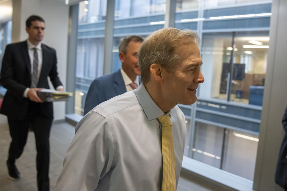
{"label": "lower glass pane nearest yellow-tied man's chest, with white light row", "polygon": [[196,122],[193,159],[220,168],[224,129]]}

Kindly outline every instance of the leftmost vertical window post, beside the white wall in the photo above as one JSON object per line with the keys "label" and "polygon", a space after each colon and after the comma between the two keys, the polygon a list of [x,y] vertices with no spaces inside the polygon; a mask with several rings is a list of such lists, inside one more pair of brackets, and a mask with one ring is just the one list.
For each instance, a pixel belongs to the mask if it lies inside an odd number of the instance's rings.
{"label": "leftmost vertical window post, beside the white wall", "polygon": [[[68,52],[67,52],[67,78],[66,91],[76,90],[76,64],[78,44],[78,15],[79,4],[71,5],[69,10]],[[66,102],[66,114],[75,113],[75,100]]]}

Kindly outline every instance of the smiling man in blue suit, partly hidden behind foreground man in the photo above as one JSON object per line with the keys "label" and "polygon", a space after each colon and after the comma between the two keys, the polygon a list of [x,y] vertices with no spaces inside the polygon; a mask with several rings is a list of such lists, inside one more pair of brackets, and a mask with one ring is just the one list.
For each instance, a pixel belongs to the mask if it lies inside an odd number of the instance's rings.
{"label": "smiling man in blue suit, partly hidden behind foreground man", "polygon": [[136,35],[120,40],[119,58],[122,67],[117,72],[97,78],[91,83],[86,96],[84,115],[98,104],[140,85],[141,70],[137,54],[143,41],[143,38]]}

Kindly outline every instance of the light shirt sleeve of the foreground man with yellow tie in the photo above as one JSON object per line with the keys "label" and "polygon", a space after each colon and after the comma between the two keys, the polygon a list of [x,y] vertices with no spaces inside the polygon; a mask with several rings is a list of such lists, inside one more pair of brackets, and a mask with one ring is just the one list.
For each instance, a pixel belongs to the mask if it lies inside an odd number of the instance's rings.
{"label": "light shirt sleeve of the foreground man with yellow tie", "polygon": [[80,127],[65,155],[56,191],[95,190],[113,164],[114,139],[106,118],[91,112],[77,126]]}

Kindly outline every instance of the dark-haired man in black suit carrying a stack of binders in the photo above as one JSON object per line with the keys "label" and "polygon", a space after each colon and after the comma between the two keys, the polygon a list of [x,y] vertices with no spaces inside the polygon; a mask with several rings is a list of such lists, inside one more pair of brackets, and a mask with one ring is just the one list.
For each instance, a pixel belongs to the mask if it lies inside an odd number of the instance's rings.
{"label": "dark-haired man in black suit carrying a stack of binders", "polygon": [[9,177],[20,178],[15,160],[26,144],[28,129],[32,127],[36,142],[38,190],[49,190],[49,136],[53,121],[53,105],[42,102],[37,91],[49,88],[48,79],[55,89],[63,86],[57,73],[56,51],[42,44],[45,21],[32,15],[26,21],[28,39],[9,44],[2,60],[0,83],[7,89],[0,113],[7,115],[10,143],[7,167]]}

